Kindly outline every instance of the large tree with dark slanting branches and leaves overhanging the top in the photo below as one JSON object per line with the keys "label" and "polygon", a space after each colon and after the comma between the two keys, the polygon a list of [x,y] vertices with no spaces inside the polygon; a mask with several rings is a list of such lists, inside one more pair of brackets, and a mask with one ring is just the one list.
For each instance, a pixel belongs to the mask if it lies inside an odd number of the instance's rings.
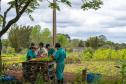
{"label": "large tree with dark slanting branches and leaves overhanging the top", "polygon": [[[7,30],[10,28],[11,25],[16,23],[23,13],[30,14],[32,13],[38,6],[39,1],[48,1],[49,7],[51,8],[57,8],[59,9],[58,3],[65,3],[71,6],[71,3],[69,0],[56,0],[57,3],[53,3],[50,0],[11,0],[8,5],[9,7],[4,12],[4,14],[0,14],[0,20],[2,21],[2,30],[0,30],[0,73],[2,68],[2,59],[1,59],[1,50],[2,50],[2,43],[1,43],[1,36],[7,32]],[[84,10],[87,9],[98,9],[100,8],[100,5],[102,4],[101,0],[81,0],[83,2],[81,8]],[[7,14],[11,9],[14,9],[16,11],[16,15],[13,16],[13,18],[9,21],[7,21]]]}

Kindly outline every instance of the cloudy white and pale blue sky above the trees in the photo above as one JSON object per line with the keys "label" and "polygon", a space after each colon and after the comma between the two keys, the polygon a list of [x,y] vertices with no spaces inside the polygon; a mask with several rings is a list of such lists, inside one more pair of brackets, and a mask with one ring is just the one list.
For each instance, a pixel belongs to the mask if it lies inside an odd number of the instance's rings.
{"label": "cloudy white and pale blue sky above the trees", "polygon": [[[2,0],[3,13],[8,5]],[[97,11],[83,11],[80,6],[81,0],[71,0],[72,7],[60,4],[57,11],[57,33],[69,34],[72,39],[86,40],[90,36],[105,35],[108,40],[126,43],[126,1],[125,0],[102,0],[103,5]],[[8,20],[15,15],[11,10]],[[17,22],[19,25],[40,25],[41,28],[49,28],[52,31],[52,9],[48,8],[48,2],[41,2],[38,9],[32,14],[34,21],[30,21],[24,14]],[[4,35],[3,38],[7,36]]]}

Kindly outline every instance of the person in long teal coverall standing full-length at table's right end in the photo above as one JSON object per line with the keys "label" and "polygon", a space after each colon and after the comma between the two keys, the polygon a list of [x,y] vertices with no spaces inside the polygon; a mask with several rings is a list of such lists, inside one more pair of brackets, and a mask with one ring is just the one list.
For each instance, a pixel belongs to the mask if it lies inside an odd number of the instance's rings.
{"label": "person in long teal coverall standing full-length at table's right end", "polygon": [[65,49],[61,48],[61,45],[59,43],[55,44],[55,48],[57,51],[54,53],[53,57],[56,61],[57,83],[63,84],[66,51]]}

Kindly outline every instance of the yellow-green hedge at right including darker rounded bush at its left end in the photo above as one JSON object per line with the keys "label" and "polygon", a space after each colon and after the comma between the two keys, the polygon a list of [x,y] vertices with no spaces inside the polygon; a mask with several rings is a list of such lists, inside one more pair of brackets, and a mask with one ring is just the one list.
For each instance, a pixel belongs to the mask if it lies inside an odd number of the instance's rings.
{"label": "yellow-green hedge at right including darker rounded bush at its left end", "polygon": [[[92,52],[91,52],[92,51]],[[114,50],[114,49],[98,49],[84,50],[82,53],[83,60],[121,60],[126,59],[126,49]]]}

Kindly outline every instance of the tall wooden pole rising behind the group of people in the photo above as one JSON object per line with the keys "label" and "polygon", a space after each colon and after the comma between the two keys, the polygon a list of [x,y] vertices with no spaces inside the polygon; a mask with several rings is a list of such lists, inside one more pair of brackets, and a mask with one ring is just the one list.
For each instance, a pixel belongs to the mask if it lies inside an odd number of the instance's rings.
{"label": "tall wooden pole rising behind the group of people", "polygon": [[[56,0],[53,0],[56,3]],[[53,8],[53,47],[56,43],[56,8]]]}

